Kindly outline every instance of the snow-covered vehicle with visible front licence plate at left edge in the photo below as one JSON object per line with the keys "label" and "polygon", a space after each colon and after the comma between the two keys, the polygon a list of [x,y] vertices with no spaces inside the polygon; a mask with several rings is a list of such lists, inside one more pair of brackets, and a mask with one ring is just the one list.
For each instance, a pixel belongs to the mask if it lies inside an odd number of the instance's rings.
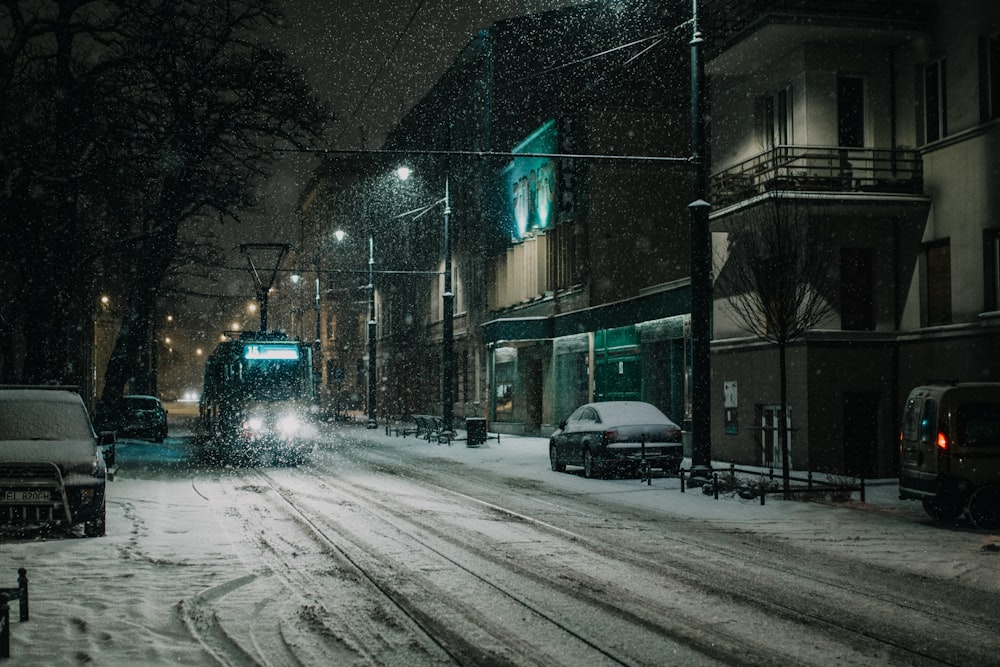
{"label": "snow-covered vehicle with visible front licence plate at left edge", "polygon": [[0,525],[105,532],[114,434],[94,432],[80,395],[0,388]]}

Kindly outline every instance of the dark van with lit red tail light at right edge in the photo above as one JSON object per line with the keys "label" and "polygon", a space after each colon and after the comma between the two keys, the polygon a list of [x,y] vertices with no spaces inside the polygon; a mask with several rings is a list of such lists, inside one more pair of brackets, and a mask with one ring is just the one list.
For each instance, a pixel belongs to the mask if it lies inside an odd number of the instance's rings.
{"label": "dark van with lit red tail light at right edge", "polygon": [[932,384],[906,399],[899,497],[934,519],[1000,523],[1000,382]]}

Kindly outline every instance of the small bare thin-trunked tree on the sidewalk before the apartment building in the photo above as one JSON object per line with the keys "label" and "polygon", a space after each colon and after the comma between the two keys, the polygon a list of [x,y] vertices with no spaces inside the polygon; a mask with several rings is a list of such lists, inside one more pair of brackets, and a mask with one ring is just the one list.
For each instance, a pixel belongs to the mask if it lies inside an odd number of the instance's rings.
{"label": "small bare thin-trunked tree on the sidewalk before the apartment building", "polygon": [[789,492],[788,344],[835,312],[831,300],[834,256],[810,229],[795,201],[768,199],[747,209],[729,233],[728,255],[717,289],[734,319],[778,346],[781,476]]}

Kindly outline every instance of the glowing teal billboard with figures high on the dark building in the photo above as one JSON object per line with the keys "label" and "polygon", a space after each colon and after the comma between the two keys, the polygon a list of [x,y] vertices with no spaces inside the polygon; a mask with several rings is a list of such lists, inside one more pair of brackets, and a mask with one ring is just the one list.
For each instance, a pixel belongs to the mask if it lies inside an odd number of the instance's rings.
{"label": "glowing teal billboard with figures high on the dark building", "polygon": [[522,239],[529,232],[545,229],[553,223],[555,162],[552,158],[535,155],[555,153],[556,147],[556,124],[550,120],[512,151],[527,155],[514,158],[503,170],[507,201],[514,221],[512,236],[515,239]]}

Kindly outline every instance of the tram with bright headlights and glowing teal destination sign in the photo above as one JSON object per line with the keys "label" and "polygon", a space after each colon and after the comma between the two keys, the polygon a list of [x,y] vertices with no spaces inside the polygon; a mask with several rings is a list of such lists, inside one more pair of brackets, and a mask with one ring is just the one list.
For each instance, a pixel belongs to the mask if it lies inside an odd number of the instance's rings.
{"label": "tram with bright headlights and glowing teal destination sign", "polygon": [[205,364],[197,448],[217,463],[297,465],[312,453],[312,349],[282,333],[244,332]]}

